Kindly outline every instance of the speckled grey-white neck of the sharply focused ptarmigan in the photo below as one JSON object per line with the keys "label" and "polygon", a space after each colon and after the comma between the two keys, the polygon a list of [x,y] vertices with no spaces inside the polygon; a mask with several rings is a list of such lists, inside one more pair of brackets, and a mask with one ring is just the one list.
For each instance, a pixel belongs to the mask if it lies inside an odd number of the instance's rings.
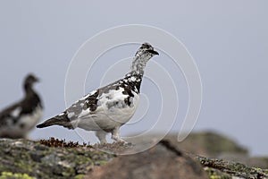
{"label": "speckled grey-white neck of the sharply focused ptarmigan", "polygon": [[130,73],[132,75],[143,76],[146,65],[147,65],[147,60],[143,59],[142,56],[140,55],[136,55],[131,64]]}

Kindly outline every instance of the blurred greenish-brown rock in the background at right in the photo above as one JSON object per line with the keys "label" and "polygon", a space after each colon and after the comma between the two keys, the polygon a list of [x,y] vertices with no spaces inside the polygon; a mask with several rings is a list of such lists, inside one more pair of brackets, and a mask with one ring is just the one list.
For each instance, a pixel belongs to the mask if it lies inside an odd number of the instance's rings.
{"label": "blurred greenish-brown rock in the background at right", "polygon": [[250,157],[248,150],[238,142],[217,132],[193,132],[185,141],[178,142],[177,135],[169,134],[165,139],[177,148],[207,158],[222,158],[240,162],[251,167],[268,168],[268,158]]}

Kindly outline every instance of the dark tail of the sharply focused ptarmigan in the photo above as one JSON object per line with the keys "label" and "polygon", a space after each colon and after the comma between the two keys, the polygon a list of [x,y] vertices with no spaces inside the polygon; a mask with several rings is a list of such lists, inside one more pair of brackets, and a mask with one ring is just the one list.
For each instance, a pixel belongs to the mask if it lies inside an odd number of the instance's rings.
{"label": "dark tail of the sharply focused ptarmigan", "polygon": [[70,119],[68,119],[64,115],[56,115],[50,119],[47,119],[44,123],[38,124],[37,128],[44,128],[51,125],[62,125],[63,127],[67,127],[68,129],[73,129]]}

